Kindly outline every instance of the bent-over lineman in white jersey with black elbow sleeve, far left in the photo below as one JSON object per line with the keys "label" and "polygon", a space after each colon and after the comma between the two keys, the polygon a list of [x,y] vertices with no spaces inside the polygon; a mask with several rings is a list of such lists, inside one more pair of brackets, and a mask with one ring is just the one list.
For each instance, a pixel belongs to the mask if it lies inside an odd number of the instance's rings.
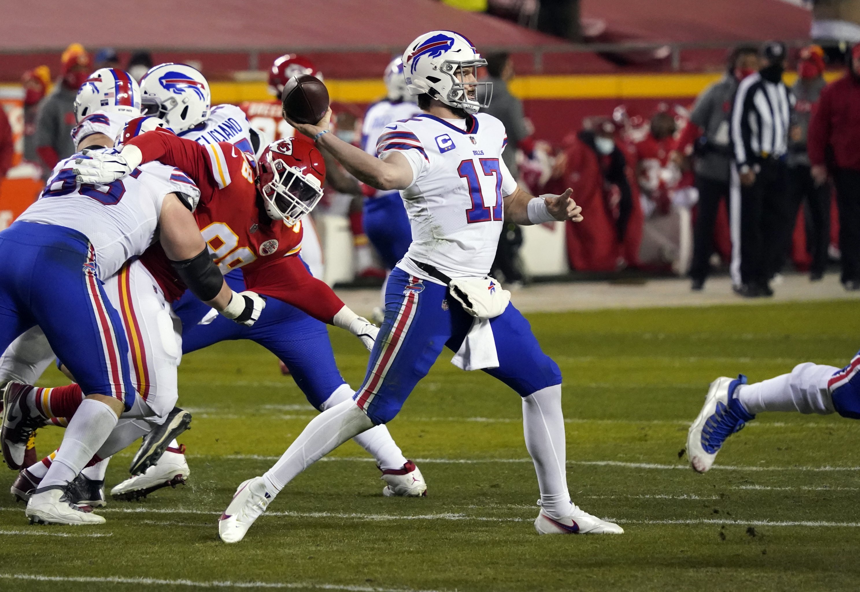
{"label": "bent-over lineman in white jersey with black elbow sleeve, far left", "polygon": [[[158,236],[177,273],[224,316],[253,319],[263,305],[255,294],[246,297],[227,286],[190,211],[200,192],[183,183],[182,195],[177,194],[173,167],[144,164],[121,181],[87,185],[76,181],[75,170],[76,161],[86,158],[77,154],[60,163],[40,199],[0,232],[0,314],[5,318],[0,349],[38,324],[85,395],[65,431],[62,450],[30,496],[26,514],[31,522],[104,522],[70,503],[66,487],[100,451],[120,416],[167,412],[154,409],[156,402],[140,397],[132,383],[128,319],[114,307],[101,281],[121,274],[126,260],[143,254]],[[3,391],[0,444],[13,468],[22,464],[29,433],[42,424],[35,392],[15,383]]]}

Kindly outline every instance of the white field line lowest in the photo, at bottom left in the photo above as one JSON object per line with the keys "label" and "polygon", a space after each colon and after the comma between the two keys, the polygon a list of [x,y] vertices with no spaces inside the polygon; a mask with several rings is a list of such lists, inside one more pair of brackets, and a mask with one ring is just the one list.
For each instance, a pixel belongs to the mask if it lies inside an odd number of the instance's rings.
{"label": "white field line lowest in the photo, at bottom left", "polygon": [[154,577],[84,577],[84,576],[41,576],[35,574],[0,573],[0,578],[31,580],[35,582],[81,582],[81,583],[132,583],[144,586],[191,586],[194,588],[286,588],[347,590],[349,592],[437,592],[436,590],[416,590],[411,588],[378,588],[377,586],[351,586],[336,583],[312,582],[198,582],[195,580],[163,580]]}

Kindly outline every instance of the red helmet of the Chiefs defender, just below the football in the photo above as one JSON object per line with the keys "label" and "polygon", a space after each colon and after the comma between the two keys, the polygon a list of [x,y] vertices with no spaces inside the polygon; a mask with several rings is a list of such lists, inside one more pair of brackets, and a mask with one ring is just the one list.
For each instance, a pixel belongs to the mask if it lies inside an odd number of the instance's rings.
{"label": "red helmet of the Chiefs defender, just below the football", "polygon": [[257,172],[257,188],[271,219],[292,226],[322,197],[325,161],[314,143],[302,136],[267,145]]}

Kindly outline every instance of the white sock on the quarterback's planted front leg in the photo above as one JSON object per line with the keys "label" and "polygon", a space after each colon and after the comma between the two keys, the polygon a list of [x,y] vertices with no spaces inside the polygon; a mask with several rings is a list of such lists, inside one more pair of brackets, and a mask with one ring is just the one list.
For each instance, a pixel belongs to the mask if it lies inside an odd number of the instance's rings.
{"label": "white sock on the quarterback's planted front leg", "polygon": [[523,431],[537,472],[541,507],[556,518],[570,514],[562,385],[547,386],[523,398]]}

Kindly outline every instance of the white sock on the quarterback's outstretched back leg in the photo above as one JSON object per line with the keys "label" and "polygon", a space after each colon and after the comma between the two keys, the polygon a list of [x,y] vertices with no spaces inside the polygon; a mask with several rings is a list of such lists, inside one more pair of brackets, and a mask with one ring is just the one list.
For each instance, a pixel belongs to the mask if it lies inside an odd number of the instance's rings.
{"label": "white sock on the quarterback's outstretched back leg", "polygon": [[269,490],[277,494],[298,473],[372,427],[370,417],[352,399],[322,411],[310,420],[278,462],[263,474]]}

